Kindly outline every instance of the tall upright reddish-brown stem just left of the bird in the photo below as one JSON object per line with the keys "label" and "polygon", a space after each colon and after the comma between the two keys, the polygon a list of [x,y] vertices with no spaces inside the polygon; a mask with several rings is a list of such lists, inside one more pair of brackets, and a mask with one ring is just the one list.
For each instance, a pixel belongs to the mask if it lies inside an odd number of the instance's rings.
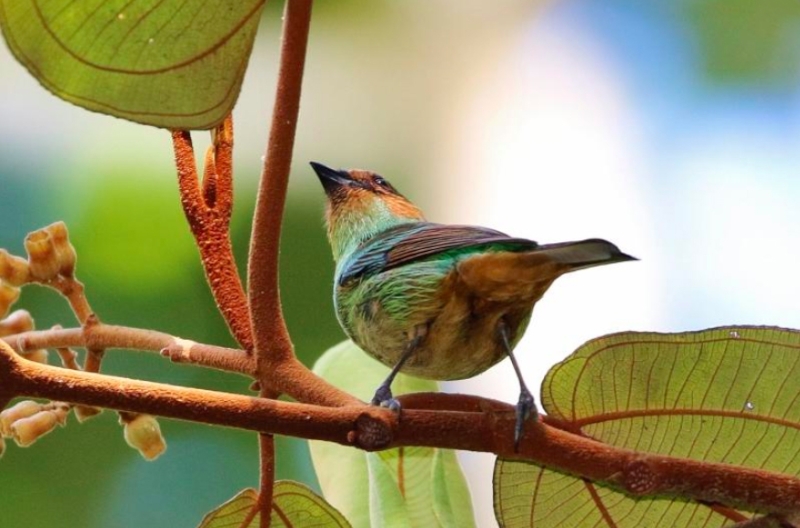
{"label": "tall upright reddish-brown stem just left of the bird", "polygon": [[289,0],[285,6],[278,86],[250,238],[250,317],[262,387],[303,402],[354,405],[360,402],[314,375],[295,357],[278,287],[281,221],[300,109],[311,4],[311,0]]}

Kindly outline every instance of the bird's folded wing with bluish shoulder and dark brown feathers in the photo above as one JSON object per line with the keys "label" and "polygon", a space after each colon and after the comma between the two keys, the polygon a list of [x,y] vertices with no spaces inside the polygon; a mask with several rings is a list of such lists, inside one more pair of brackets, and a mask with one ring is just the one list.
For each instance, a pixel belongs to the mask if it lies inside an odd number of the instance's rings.
{"label": "bird's folded wing with bluish shoulder and dark brown feathers", "polygon": [[366,241],[348,263],[339,284],[453,251],[497,245],[506,251],[527,251],[538,244],[484,227],[429,222],[403,224]]}

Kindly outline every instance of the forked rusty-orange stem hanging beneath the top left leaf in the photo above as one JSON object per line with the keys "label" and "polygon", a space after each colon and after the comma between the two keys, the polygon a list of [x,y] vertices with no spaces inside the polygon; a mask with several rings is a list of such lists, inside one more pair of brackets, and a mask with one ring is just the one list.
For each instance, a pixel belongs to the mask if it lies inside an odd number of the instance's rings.
{"label": "forked rusty-orange stem hanging beneath the top left leaf", "polygon": [[231,116],[214,130],[213,138],[213,144],[206,153],[201,189],[189,132],[172,132],[178,188],[183,212],[200,251],[214,301],[231,335],[249,351],[253,348],[253,337],[247,297],[233,257],[229,231],[233,211]]}

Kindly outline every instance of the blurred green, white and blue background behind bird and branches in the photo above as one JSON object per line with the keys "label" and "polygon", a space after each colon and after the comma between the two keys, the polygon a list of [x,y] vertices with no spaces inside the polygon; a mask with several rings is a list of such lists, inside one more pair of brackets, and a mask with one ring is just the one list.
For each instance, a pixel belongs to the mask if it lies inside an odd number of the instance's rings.
{"label": "blurred green, white and blue background behind bird and branches", "polygon": [[[281,9],[265,9],[234,114],[242,266]],[[319,2],[281,256],[298,354],[311,364],[343,338],[309,160],[378,170],[435,220],[603,236],[642,257],[554,287],[520,345],[531,385],[611,331],[800,327],[799,23],[794,0]],[[194,138],[202,153],[208,134]],[[55,99],[0,47],[0,247],[22,254],[25,234],[55,220],[104,321],[232,344],[185,226],[169,134]],[[74,324],[49,291],[26,288],[18,307],[39,328]],[[451,388],[512,401],[507,367]],[[103,368],[248,393],[241,377],[154,354],[113,351]],[[194,526],[256,485],[253,434],[161,423],[169,447],[154,463],[110,412],[9,445],[0,524]],[[305,443],[279,446],[278,476],[316,485]],[[479,525],[492,526],[492,459],[462,460]]]}

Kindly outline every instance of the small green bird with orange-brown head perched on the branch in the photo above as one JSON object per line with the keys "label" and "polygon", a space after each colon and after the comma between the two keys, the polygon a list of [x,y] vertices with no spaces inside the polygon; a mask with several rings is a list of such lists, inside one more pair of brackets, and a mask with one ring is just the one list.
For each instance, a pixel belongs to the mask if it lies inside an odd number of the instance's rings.
{"label": "small green bird with orange-brown head perched on the branch", "polygon": [[333,301],[347,336],[391,371],[371,403],[400,411],[398,372],[433,380],[475,376],[505,357],[520,385],[514,447],[537,416],[514,347],[558,277],[638,260],[591,238],[538,244],[500,231],[437,224],[375,172],[311,162],[326,194],[335,261]]}

